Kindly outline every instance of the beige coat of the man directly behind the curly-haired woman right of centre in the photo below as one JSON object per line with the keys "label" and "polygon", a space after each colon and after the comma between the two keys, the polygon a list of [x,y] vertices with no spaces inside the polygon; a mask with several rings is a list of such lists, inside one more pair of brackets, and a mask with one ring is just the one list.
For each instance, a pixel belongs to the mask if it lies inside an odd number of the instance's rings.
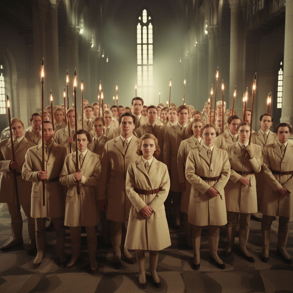
{"label": "beige coat of the man directly behind the curly-haired woman right of centre", "polygon": [[188,125],[185,129],[184,137],[182,136],[180,127],[176,122],[173,126],[166,128],[164,136],[164,149],[163,160],[167,165],[168,170],[171,170],[171,186],[170,190],[175,192],[181,192],[182,189],[179,186],[178,171],[177,171],[177,155],[180,143],[184,139],[188,139],[192,134],[188,133]]}

